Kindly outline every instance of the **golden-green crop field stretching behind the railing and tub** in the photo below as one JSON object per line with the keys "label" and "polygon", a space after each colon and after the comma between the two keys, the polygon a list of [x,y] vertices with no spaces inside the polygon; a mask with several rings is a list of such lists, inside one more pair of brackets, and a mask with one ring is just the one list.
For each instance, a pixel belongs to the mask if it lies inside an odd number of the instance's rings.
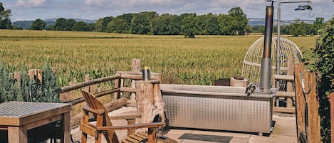
{"label": "golden-green crop field stretching behind the railing and tub", "polygon": [[[261,36],[147,36],[94,32],[0,30],[0,61],[11,72],[56,67],[59,83],[130,70],[132,58],[162,73],[162,83],[212,85],[241,75],[247,49]],[[310,56],[316,37],[285,37]],[[303,50],[302,50],[303,51]]]}

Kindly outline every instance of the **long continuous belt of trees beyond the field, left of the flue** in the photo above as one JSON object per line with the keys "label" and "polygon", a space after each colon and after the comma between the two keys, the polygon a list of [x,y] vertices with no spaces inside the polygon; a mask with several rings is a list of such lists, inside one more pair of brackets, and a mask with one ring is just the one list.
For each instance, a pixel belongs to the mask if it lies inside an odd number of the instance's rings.
{"label": "long continuous belt of trees beyond the field, left of the flue", "polygon": [[97,31],[109,33],[184,35],[244,35],[249,32],[246,14],[240,7],[232,8],[229,14],[162,14],[144,11],[137,14],[122,14],[99,18],[95,23],[58,18],[52,26],[41,19],[33,21],[32,30]]}

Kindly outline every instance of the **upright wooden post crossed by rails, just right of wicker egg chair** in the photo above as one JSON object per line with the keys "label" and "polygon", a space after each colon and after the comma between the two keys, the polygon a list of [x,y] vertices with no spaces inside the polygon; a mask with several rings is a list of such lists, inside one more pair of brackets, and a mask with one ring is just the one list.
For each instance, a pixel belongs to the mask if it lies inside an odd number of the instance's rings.
{"label": "upright wooden post crossed by rails, just right of wicker egg chair", "polygon": [[[288,73],[287,75],[292,75],[293,76],[293,58],[292,55],[288,55]],[[288,82],[286,83],[286,91],[287,92],[293,92],[293,83],[291,80],[288,80]],[[293,94],[294,96],[294,94]],[[293,98],[292,97],[288,97],[286,99],[286,107],[288,108],[292,108],[293,107]]]}

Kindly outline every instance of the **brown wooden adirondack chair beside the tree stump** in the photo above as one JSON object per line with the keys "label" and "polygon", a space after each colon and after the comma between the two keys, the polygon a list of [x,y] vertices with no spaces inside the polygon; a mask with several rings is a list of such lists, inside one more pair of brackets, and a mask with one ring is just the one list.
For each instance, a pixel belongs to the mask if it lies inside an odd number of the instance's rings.
{"label": "brown wooden adirondack chair beside the tree stump", "polygon": [[[81,142],[87,142],[87,135],[95,137],[95,143],[101,142],[101,135],[105,136],[108,143],[119,143],[118,137],[115,134],[115,130],[127,129],[127,137],[122,140],[122,142],[157,142],[156,130],[158,127],[165,125],[163,122],[154,122],[147,124],[137,124],[135,125],[135,118],[140,117],[140,115],[124,115],[118,117],[111,117],[115,120],[124,119],[127,120],[127,125],[125,126],[113,126],[106,112],[103,104],[99,102],[93,95],[89,92],[82,91],[83,97],[87,102],[87,105],[83,107],[83,121],[80,124],[80,131],[82,132]],[[91,125],[88,122],[88,113],[93,113],[96,119],[96,125]],[[135,129],[138,128],[148,128],[148,132],[135,133]],[[166,140],[166,138],[164,138]],[[167,140],[167,142],[174,142],[173,139]]]}

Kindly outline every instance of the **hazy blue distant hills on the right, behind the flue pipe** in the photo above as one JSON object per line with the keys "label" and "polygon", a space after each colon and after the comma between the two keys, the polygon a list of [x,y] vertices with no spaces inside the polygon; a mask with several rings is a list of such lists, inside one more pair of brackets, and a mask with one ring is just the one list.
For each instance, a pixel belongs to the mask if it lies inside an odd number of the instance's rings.
{"label": "hazy blue distant hills on the right, behind the flue pipe", "polygon": [[[266,19],[265,18],[248,18],[249,21],[249,26],[264,26]],[[302,20],[305,23],[313,23],[314,20]],[[281,26],[283,25],[289,25],[291,23],[296,23],[296,20],[281,20]],[[277,20],[274,19],[273,20],[273,25],[276,26],[277,25]]]}

